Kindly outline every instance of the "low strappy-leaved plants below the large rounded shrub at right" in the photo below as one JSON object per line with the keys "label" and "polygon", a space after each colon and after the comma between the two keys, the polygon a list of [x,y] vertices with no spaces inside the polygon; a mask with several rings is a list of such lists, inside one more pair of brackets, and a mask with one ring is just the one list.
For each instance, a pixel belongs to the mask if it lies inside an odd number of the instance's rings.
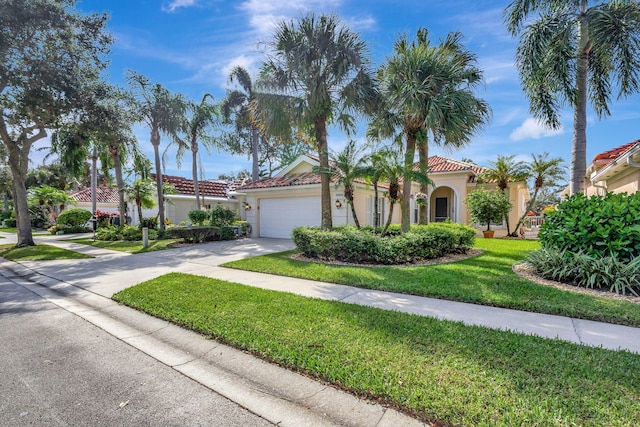
{"label": "low strappy-leaved plants below the large rounded shrub at right", "polygon": [[545,279],[616,294],[638,296],[640,293],[640,257],[627,262],[584,252],[543,248],[531,252],[526,261]]}

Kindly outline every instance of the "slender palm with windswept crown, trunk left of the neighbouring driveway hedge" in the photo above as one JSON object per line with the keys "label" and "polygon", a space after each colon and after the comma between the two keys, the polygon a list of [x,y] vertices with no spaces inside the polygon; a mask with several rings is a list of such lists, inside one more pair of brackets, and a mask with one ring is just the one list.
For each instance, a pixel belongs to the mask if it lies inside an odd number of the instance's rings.
{"label": "slender palm with windswept crown, trunk left of the neighbouring driveway hedge", "polygon": [[186,104],[180,94],[172,94],[159,83],[151,84],[149,80],[135,72],[127,74],[129,85],[134,91],[134,105],[151,131],[151,145],[156,168],[156,187],[158,191],[158,216],[160,229],[165,229],[164,195],[162,193],[162,165],[160,161],[160,132],[174,137],[180,128]]}

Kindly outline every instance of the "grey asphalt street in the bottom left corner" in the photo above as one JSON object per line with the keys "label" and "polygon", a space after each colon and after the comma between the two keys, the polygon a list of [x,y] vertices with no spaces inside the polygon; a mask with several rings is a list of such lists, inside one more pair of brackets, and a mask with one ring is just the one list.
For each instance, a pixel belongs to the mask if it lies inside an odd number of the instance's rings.
{"label": "grey asphalt street in the bottom left corner", "polygon": [[273,425],[0,276],[0,425]]}

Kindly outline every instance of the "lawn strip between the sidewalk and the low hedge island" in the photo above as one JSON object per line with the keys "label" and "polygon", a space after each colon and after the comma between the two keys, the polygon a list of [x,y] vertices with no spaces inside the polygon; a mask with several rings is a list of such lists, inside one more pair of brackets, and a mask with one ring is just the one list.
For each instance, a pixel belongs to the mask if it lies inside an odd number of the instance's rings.
{"label": "lawn strip between the sidewalk and the low hedge island", "polygon": [[477,239],[481,256],[423,267],[348,267],[297,261],[294,251],[224,264],[282,276],[475,304],[640,326],[640,304],[563,291],[516,275],[512,266],[536,241]]}

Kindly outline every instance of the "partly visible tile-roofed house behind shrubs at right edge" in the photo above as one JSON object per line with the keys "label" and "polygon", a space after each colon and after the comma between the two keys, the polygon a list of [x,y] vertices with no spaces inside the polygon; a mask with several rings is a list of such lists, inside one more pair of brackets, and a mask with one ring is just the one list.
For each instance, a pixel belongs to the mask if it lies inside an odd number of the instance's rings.
{"label": "partly visible tile-roofed house behind shrubs at right edge", "polygon": [[587,196],[640,191],[640,139],[596,154],[587,179]]}

